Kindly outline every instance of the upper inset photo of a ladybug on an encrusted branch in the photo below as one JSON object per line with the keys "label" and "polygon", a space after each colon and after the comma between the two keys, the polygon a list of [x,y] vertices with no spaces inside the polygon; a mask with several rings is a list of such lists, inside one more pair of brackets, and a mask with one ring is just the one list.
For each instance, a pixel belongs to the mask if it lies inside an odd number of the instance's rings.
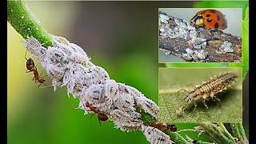
{"label": "upper inset photo of a ladybug on an encrusted branch", "polygon": [[241,8],[159,8],[159,63],[242,62]]}

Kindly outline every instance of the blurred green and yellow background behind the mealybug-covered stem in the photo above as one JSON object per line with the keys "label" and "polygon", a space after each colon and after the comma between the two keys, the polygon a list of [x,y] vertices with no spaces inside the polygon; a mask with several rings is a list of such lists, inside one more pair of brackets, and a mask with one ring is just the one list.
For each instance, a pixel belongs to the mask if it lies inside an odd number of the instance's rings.
{"label": "blurred green and yellow background behind the mealybug-covered stem", "polygon": [[[42,2],[27,5],[50,34],[81,46],[117,82],[158,102],[158,7],[194,2]],[[38,89],[26,73],[24,39],[7,22],[8,143],[149,143],[139,131],[122,132],[113,122],[99,126],[76,110],[66,88]],[[30,54],[27,54],[27,58]],[[35,59],[34,59],[35,60]],[[35,61],[36,62],[36,61]],[[38,63],[38,62],[36,62]],[[42,72],[38,65],[38,71]],[[46,74],[44,71],[43,74]],[[47,78],[46,85],[50,84]],[[193,127],[193,124],[177,124]]]}

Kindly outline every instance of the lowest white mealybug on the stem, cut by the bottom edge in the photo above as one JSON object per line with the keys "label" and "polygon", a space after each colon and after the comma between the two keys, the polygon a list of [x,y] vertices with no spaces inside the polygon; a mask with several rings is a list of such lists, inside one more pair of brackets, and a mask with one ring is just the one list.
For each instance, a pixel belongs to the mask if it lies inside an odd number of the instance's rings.
{"label": "lowest white mealybug on the stem, cut by the bottom edge", "polygon": [[142,132],[151,144],[171,144],[170,136],[151,126],[142,126]]}

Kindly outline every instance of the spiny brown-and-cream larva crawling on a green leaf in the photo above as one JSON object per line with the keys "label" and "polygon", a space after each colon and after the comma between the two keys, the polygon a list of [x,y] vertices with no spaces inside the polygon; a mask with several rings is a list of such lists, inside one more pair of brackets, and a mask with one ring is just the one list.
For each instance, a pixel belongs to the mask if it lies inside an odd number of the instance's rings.
{"label": "spiny brown-and-cream larva crawling on a green leaf", "polygon": [[[206,105],[205,102],[207,98],[212,98],[214,100],[219,101],[219,99],[216,98],[215,94],[218,94],[223,90],[226,90],[227,87],[233,84],[237,78],[237,74],[234,73],[219,74],[214,78],[210,78],[208,82],[203,82],[201,86],[196,86],[194,90],[190,92],[185,90],[188,94],[186,95],[186,98],[183,98],[183,100],[186,100],[186,106],[189,106],[191,103],[194,103],[194,110],[197,107],[196,102],[198,100],[202,100],[204,106],[206,106],[206,109],[208,109],[208,106]],[[184,107],[184,109],[186,108],[186,106]]]}

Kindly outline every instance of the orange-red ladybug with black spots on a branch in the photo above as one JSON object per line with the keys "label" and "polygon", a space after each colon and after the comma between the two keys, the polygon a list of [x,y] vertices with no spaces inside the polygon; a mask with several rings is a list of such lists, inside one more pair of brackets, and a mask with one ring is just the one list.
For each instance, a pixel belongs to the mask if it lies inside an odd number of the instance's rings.
{"label": "orange-red ladybug with black spots on a branch", "polygon": [[194,27],[206,26],[213,30],[224,30],[227,28],[227,21],[222,12],[214,9],[198,11],[190,19],[190,25]]}

